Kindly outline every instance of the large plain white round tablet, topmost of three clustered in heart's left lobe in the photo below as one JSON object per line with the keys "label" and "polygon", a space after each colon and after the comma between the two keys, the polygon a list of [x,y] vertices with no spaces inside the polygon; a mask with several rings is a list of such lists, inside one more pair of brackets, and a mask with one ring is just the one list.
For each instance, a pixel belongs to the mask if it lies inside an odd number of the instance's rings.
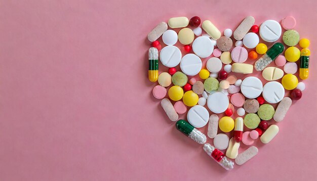
{"label": "large plain white round tablet, topmost of three clustered in heart's left lobe", "polygon": [[212,41],[207,36],[200,36],[197,37],[192,42],[192,51],[201,58],[209,57],[213,51],[214,46],[212,44]]}

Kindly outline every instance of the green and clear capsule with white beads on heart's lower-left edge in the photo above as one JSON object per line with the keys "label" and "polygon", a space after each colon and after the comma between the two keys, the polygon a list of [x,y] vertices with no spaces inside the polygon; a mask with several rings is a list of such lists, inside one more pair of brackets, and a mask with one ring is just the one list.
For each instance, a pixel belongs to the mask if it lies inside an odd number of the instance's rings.
{"label": "green and clear capsule with white beads on heart's lower-left edge", "polygon": [[205,134],[183,119],[180,119],[176,122],[176,128],[182,133],[186,134],[191,140],[199,144],[205,144],[207,141]]}

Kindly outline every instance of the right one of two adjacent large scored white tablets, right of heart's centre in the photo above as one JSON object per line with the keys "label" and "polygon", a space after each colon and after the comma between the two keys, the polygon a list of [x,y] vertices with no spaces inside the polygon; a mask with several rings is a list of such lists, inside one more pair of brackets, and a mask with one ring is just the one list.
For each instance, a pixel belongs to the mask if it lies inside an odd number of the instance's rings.
{"label": "right one of two adjacent large scored white tablets, right of heart's centre", "polygon": [[280,82],[270,81],[264,85],[262,95],[266,102],[275,104],[282,101],[285,90]]}

